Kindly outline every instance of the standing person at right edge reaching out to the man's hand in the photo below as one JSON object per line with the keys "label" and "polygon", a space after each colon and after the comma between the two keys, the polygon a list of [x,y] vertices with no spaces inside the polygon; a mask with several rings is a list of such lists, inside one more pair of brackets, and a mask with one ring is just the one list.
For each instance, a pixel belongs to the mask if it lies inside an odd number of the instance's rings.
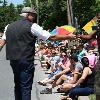
{"label": "standing person at right edge reaching out to the man's hand", "polygon": [[80,35],[78,37],[82,39],[91,39],[93,36],[97,36],[97,44],[98,44],[98,52],[99,52],[99,60],[96,64],[96,77],[95,77],[95,93],[96,100],[100,100],[100,11],[96,14],[97,25],[92,26],[92,32],[88,35]]}

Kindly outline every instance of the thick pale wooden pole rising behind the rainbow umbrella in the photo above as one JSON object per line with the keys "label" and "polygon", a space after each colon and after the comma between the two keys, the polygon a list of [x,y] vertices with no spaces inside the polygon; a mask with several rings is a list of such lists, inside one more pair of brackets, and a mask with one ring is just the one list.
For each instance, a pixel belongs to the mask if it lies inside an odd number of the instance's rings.
{"label": "thick pale wooden pole rising behind the rainbow umbrella", "polygon": [[73,26],[73,0],[67,0],[67,17],[68,17],[68,25]]}

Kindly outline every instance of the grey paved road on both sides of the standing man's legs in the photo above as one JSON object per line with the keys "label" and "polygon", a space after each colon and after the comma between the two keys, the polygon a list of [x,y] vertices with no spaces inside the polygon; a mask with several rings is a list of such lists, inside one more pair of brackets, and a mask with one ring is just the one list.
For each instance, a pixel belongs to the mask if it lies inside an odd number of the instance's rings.
{"label": "grey paved road on both sides of the standing man's legs", "polygon": [[[44,71],[40,67],[40,62],[35,61],[37,64],[35,70],[34,84],[32,90],[32,100],[60,100],[60,94],[40,94],[40,91],[45,87],[37,84],[38,80],[45,78]],[[13,73],[9,66],[9,61],[5,57],[5,48],[0,52],[0,100],[14,100],[13,93]],[[56,92],[54,89],[53,92]]]}

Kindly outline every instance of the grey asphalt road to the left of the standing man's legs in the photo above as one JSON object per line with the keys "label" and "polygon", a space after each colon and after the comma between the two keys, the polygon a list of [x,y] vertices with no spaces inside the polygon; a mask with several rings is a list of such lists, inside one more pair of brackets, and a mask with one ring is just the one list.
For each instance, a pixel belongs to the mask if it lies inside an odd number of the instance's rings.
{"label": "grey asphalt road to the left of the standing man's legs", "polygon": [[5,57],[5,48],[0,52],[0,100],[14,100],[13,74]]}

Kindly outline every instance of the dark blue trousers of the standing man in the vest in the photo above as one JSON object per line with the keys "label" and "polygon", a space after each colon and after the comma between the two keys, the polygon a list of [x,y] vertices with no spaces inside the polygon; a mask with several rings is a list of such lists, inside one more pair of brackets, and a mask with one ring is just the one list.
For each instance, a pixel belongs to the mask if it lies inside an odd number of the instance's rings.
{"label": "dark blue trousers of the standing man in the vest", "polygon": [[31,100],[34,63],[27,60],[10,60],[14,73],[15,100]]}

